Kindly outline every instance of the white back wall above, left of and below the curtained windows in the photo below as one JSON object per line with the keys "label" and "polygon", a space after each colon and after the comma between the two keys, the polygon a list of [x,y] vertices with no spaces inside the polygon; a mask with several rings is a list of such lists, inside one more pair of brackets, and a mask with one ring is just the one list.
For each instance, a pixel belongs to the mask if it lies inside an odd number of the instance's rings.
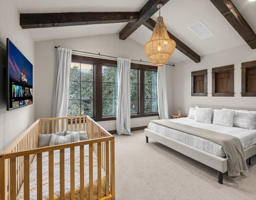
{"label": "white back wall above, left of and below the curtained windows", "polygon": [[[56,39],[38,41],[35,43],[35,63],[37,71],[35,75],[35,88],[38,91],[35,102],[35,117],[48,118],[52,116],[52,101],[56,77],[57,50],[54,46],[60,46],[78,51],[100,53],[113,57],[123,57],[147,61],[144,47],[136,41],[128,38],[120,40],[119,34],[96,35],[88,37],[77,37],[70,39]],[[76,52],[74,52],[76,53]],[[76,53],[77,54],[77,53]],[[91,55],[88,55],[91,56]],[[131,127],[147,125],[151,118],[135,118],[131,120]],[[140,120],[138,120],[140,119]],[[115,121],[99,122],[107,130],[115,130]]]}

